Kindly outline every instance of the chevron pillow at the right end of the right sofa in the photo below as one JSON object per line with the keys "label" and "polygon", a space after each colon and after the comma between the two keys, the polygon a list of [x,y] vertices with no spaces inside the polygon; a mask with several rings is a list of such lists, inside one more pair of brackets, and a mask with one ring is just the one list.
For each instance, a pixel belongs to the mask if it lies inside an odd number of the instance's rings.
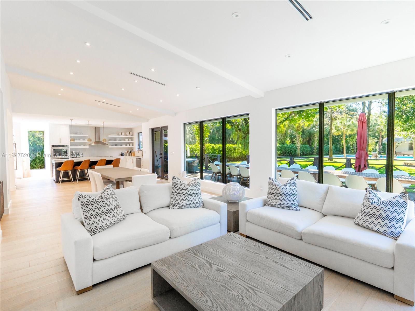
{"label": "chevron pillow at the right end of the right sofa", "polygon": [[366,188],[354,223],[397,240],[405,228],[407,209],[408,194],[402,193],[384,200],[375,191]]}

